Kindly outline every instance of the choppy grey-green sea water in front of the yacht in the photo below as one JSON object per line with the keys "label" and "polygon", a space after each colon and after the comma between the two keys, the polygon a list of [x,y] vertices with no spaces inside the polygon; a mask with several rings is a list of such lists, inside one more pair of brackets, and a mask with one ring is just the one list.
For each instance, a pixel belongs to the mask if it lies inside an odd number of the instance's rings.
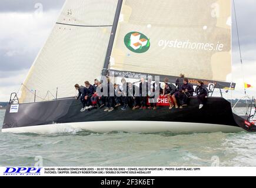
{"label": "choppy grey-green sea water in front of the yacht", "polygon": [[[0,110],[0,126],[4,115]],[[43,166],[256,166],[256,134],[0,132],[0,166],[34,166],[39,160]]]}

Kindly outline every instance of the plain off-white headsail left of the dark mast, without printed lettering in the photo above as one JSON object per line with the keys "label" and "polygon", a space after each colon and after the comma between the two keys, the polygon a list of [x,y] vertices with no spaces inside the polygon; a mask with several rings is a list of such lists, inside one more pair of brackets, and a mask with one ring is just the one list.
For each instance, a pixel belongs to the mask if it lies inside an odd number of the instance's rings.
{"label": "plain off-white headsail left of the dark mast, without printed lettering", "polygon": [[[101,75],[118,0],[67,0],[21,88],[20,102],[74,96]],[[49,91],[49,92],[48,92]]]}

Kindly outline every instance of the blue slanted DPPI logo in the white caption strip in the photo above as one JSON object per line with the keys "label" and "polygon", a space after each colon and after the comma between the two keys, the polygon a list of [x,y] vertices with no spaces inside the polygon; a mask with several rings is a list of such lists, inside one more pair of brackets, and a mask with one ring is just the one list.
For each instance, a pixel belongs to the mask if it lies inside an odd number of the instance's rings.
{"label": "blue slanted DPPI logo in the white caption strip", "polygon": [[6,167],[4,175],[39,175],[41,167]]}

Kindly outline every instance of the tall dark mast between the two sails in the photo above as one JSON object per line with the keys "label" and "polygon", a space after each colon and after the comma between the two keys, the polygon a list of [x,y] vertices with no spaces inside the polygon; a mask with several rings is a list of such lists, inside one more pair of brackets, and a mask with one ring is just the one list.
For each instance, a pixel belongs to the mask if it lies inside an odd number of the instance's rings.
{"label": "tall dark mast between the two sails", "polygon": [[115,33],[117,32],[119,16],[121,14],[122,2],[123,2],[123,0],[118,0],[117,11],[115,12],[115,19],[114,19],[114,23],[113,23],[113,26],[112,26],[111,36],[109,38],[107,54],[106,54],[105,62],[104,62],[103,69],[102,69],[102,72],[101,72],[101,76],[107,75],[110,56],[111,56],[112,48],[113,48],[114,41],[115,41]]}

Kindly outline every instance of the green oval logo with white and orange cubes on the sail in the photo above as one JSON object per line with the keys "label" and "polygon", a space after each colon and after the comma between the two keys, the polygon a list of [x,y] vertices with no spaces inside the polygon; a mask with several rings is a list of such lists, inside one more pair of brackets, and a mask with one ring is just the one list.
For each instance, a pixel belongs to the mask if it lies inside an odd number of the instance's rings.
{"label": "green oval logo with white and orange cubes on the sail", "polygon": [[150,39],[139,32],[129,32],[125,35],[124,43],[130,51],[135,53],[144,53],[150,48]]}

